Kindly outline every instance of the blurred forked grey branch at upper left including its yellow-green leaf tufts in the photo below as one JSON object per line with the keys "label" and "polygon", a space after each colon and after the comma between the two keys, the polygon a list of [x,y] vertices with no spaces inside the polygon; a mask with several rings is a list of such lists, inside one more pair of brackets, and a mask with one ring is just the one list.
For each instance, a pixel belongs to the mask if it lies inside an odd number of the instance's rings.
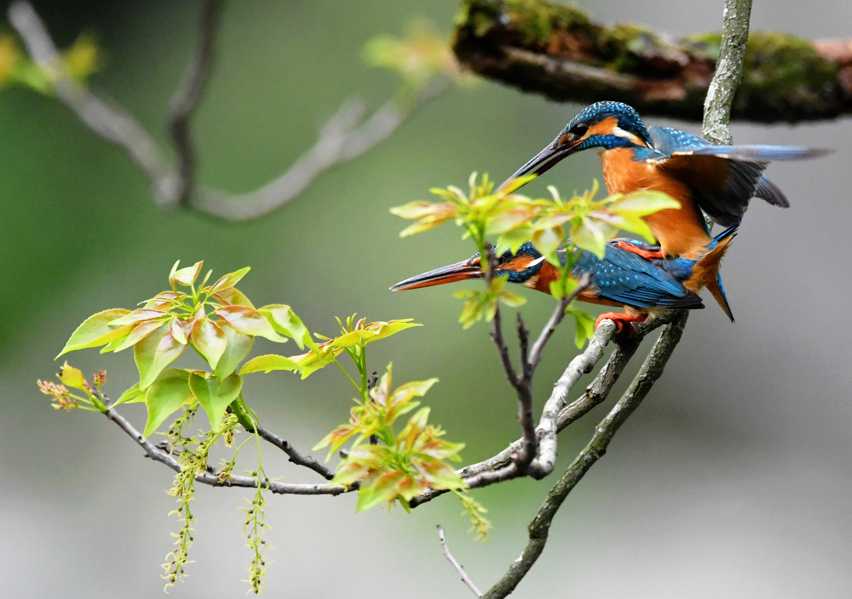
{"label": "blurred forked grey branch at upper left including its yellow-green leaf tufts", "polygon": [[[250,220],[283,206],[325,170],[348,162],[384,141],[423,104],[453,83],[463,84],[467,80],[458,71],[446,43],[428,26],[415,26],[405,40],[379,37],[368,44],[367,59],[400,73],[403,81],[394,98],[367,118],[362,102],[352,99],[343,102],[320,130],[314,146],[281,176],[254,192],[230,194],[204,187],[195,181],[196,151],[190,122],[214,65],[223,4],[224,0],[202,3],[198,49],[170,103],[168,129],[178,158],[177,167],[164,157],[157,142],[129,112],[87,89],[85,78],[90,71],[83,76],[73,71],[67,55],[56,49],[43,21],[28,2],[15,2],[9,7],[9,21],[32,59],[32,64],[10,60],[14,68],[28,76],[24,80],[20,75],[11,78],[45,93],[53,91],[89,129],[124,147],[150,181],[158,206],[169,209],[185,205],[228,221]],[[94,52],[94,46],[91,49]],[[14,54],[11,45],[9,54]],[[12,68],[9,66],[10,71]]]}

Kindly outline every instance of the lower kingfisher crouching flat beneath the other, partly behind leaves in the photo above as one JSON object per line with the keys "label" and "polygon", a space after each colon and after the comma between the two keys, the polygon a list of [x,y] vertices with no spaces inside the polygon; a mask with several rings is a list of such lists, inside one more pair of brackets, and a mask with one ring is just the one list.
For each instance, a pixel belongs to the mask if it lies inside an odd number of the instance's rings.
{"label": "lower kingfisher crouching flat beneath the other, partly behind leaves", "polygon": [[[718,262],[731,239],[734,239],[737,227],[734,225],[719,233],[694,258],[646,257],[659,251],[659,246],[636,239],[611,239],[603,259],[590,251],[576,250],[571,274],[577,279],[585,273],[591,277],[589,287],[580,292],[578,299],[581,302],[625,308],[623,313],[601,314],[595,325],[599,325],[601,320],[611,319],[619,331],[627,325],[631,332],[630,323],[642,322],[655,308],[704,308],[697,291],[706,285],[703,283],[706,274],[718,269]],[[564,264],[565,250],[557,251],[557,256]],[[464,279],[479,279],[483,276],[480,260],[477,253],[463,262],[418,274],[390,289],[404,291]],[[494,274],[508,274],[509,282],[544,293],[550,293],[550,283],[559,279],[559,271],[546,262],[529,241],[514,254],[504,251],[498,257]]]}

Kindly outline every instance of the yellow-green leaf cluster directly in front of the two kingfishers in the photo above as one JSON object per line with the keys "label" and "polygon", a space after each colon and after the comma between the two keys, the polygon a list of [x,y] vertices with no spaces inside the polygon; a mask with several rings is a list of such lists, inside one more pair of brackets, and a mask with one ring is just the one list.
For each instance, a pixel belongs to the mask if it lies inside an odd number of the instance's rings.
{"label": "yellow-green leaf cluster directly in front of the two kingfishers", "polygon": [[[469,192],[459,187],[433,188],[442,202],[414,201],[392,208],[396,216],[415,221],[402,230],[400,237],[422,233],[440,224],[454,220],[464,228],[463,239],[474,240],[480,256],[489,256],[487,239],[496,237],[498,247],[504,246],[516,252],[527,241],[558,271],[559,278],[550,283],[550,294],[557,299],[570,295],[579,282],[573,277],[571,268],[578,251],[590,251],[603,258],[607,242],[619,232],[629,231],[642,235],[653,243],[653,233],[642,220],[643,216],[658,210],[678,209],[680,204],[665,193],[639,191],[616,193],[597,199],[598,182],[591,189],[570,199],[561,198],[556,187],[550,186],[550,198],[532,199],[516,191],[536,176],[518,177],[494,190],[493,181],[477,175],[469,178]],[[486,266],[484,270],[492,268]],[[506,279],[500,276],[486,277],[486,291],[458,291],[456,297],[467,299],[459,322],[468,328],[483,318],[492,320],[498,302],[516,307],[525,300],[509,291],[504,291]],[[566,314],[573,317],[575,343],[582,347],[594,332],[594,319],[582,308],[569,304]]]}

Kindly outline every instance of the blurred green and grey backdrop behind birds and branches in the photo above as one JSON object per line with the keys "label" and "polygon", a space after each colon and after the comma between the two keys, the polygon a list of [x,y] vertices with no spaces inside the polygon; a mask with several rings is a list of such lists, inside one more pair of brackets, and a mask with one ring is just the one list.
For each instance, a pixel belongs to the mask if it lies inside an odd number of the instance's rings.
{"label": "blurred green and grey backdrop behind birds and branches", "polygon": [[[597,20],[682,35],[718,29],[722,0],[585,0]],[[193,49],[198,3],[36,3],[67,45],[82,29],[99,38],[92,84],[165,141],[164,111]],[[395,78],[371,69],[360,48],[426,16],[449,32],[455,0],[256,1],[227,4],[219,60],[193,122],[199,180],[245,192],[277,176],[314,143],[317,126],[351,95],[377,107]],[[753,28],[846,37],[852,8],[757,0]],[[447,226],[399,239],[389,206],[463,185],[472,170],[508,175],[550,141],[579,107],[481,81],[453,89],[389,141],[321,176],[283,210],[225,223],[154,208],[127,156],[55,99],[0,92],[0,584],[4,596],[160,596],[159,564],[176,530],[170,471],[142,458],[117,427],[87,412],[55,412],[35,380],[73,328],[105,308],[132,308],[161,291],[176,259],[222,274],[252,267],[240,288],[260,304],[290,303],[314,331],[334,315],[414,318],[422,328],[371,345],[371,367],[394,360],[397,382],[440,377],[426,403],[466,462],[518,435],[515,399],[478,325],[462,331],[449,288],[394,294],[388,286],[456,262],[472,249]],[[653,124],[676,124],[649,119]],[[676,124],[684,126],[684,124]],[[686,124],[698,130],[698,124]],[[790,210],[752,206],[723,273],[736,325],[712,303],[690,319],[664,377],[613,441],[610,453],[557,516],[550,544],[519,597],[843,596],[852,585],[849,336],[852,291],[845,242],[852,216],[848,120],[757,127],[741,142],[835,147],[819,162],[780,164],[769,176]],[[582,190],[600,178],[595,154],[561,164],[536,189]],[[463,285],[458,285],[463,287]],[[552,300],[526,293],[540,325]],[[575,353],[557,333],[536,378],[540,405]],[[271,350],[258,344],[257,352]],[[292,345],[292,344],[291,344]],[[296,352],[295,346],[292,348]],[[285,353],[289,353],[285,351]],[[109,373],[118,395],[133,382],[130,354],[70,356]],[[626,384],[621,385],[623,388]],[[247,400],[271,429],[308,448],[343,421],[348,383],[335,371],[301,382],[287,373],[248,382]],[[620,389],[619,388],[619,389]],[[579,391],[577,392],[579,393]],[[614,394],[613,394],[614,395]],[[561,435],[561,464],[584,444],[607,406]],[[144,410],[124,412],[141,426]],[[270,446],[268,471],[314,481]],[[406,515],[354,515],[354,497],[268,498],[270,596],[465,596],[444,562],[435,523],[481,587],[526,542],[526,525],[550,484],[513,481],[475,492],[494,524],[472,544],[460,506],[444,498]],[[250,561],[236,511],[247,492],[200,488],[196,560],[178,597],[243,596]]]}

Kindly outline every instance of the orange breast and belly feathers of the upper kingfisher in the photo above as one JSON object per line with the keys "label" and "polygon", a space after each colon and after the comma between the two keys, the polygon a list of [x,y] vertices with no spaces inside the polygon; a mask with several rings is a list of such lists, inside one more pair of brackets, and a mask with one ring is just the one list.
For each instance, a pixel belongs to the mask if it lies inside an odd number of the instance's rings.
{"label": "orange breast and belly feathers of the upper kingfisher", "polygon": [[692,199],[689,186],[657,164],[636,162],[627,147],[601,153],[603,179],[609,193],[632,193],[642,189],[664,192],[681,203],[680,210],[659,210],[642,220],[648,224],[666,256],[694,258],[711,237],[705,231],[704,216]]}

